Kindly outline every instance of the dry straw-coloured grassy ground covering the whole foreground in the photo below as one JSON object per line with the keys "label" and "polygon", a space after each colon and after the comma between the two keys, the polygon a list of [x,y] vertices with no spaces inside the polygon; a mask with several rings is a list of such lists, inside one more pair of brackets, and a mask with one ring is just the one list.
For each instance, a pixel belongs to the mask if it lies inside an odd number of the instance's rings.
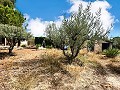
{"label": "dry straw-coloured grassy ground covering the whole foreground", "polygon": [[81,51],[79,66],[69,65],[60,50],[0,51],[0,90],[120,90],[120,56]]}

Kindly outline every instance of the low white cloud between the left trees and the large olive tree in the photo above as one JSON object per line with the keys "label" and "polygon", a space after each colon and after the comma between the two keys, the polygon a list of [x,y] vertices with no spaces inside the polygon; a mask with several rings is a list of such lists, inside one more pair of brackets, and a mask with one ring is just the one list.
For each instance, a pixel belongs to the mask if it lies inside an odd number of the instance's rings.
{"label": "low white cloud between the left trees and the large olive tree", "polygon": [[[29,15],[25,14],[24,17],[27,17],[27,20],[29,19]],[[62,23],[63,16],[59,16],[57,20],[54,21],[56,23],[57,27],[59,27]],[[27,21],[28,26],[27,29],[35,36],[45,36],[44,31],[46,29],[46,26],[49,23],[53,23],[53,21],[43,21],[41,18],[35,18],[35,19],[30,19]]]}

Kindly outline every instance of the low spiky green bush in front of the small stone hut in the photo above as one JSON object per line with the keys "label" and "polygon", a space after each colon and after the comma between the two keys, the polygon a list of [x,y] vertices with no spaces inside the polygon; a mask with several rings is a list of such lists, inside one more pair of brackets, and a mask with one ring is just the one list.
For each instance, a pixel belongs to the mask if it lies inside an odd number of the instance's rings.
{"label": "low spiky green bush in front of the small stone hut", "polygon": [[103,52],[107,57],[114,58],[116,57],[120,52],[118,49],[107,49]]}

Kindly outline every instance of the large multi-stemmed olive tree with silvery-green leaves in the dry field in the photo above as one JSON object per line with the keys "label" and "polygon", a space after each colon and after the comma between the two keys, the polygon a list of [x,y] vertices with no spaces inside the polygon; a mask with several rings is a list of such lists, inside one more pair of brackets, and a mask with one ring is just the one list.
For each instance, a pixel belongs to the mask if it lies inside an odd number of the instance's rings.
{"label": "large multi-stemmed olive tree with silvery-green leaves in the dry field", "polygon": [[[83,9],[80,5],[78,13],[72,13],[70,18],[64,19],[60,28],[55,25],[49,25],[46,28],[46,36],[62,46],[63,54],[69,63],[76,58],[85,41],[102,39],[108,33],[102,27],[100,10],[93,15],[90,12],[90,6],[89,4]],[[65,46],[70,49],[65,50]]]}

